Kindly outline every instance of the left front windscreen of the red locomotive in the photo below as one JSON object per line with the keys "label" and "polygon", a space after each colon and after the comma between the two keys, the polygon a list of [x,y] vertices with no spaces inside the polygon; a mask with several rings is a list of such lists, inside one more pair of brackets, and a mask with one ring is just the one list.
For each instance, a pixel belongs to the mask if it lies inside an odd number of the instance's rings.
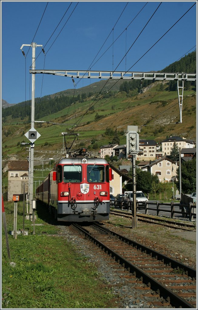
{"label": "left front windscreen of the red locomotive", "polygon": [[80,165],[63,166],[63,182],[81,183],[82,182],[82,166]]}

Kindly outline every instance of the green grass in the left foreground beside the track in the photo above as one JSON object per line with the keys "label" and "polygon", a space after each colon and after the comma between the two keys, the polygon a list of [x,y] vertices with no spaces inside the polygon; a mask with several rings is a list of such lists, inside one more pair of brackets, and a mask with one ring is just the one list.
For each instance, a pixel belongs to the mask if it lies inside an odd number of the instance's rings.
{"label": "green grass in the left foreground beside the track", "polygon": [[[18,203],[17,230],[22,228],[22,203]],[[13,230],[13,203],[5,204],[8,230]],[[57,226],[37,206],[36,235],[25,220],[28,236],[9,235],[11,259],[7,257],[2,225],[2,307],[3,308],[112,308],[111,287],[100,279],[96,267],[80,255],[64,237],[38,235],[56,233]],[[10,262],[16,263],[15,267]],[[114,308],[114,307],[113,307]]]}

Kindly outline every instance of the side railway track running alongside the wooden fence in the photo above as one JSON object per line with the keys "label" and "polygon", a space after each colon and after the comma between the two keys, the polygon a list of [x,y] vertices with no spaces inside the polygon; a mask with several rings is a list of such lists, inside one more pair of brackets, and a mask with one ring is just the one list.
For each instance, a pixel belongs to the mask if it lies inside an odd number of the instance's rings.
{"label": "side railway track running alongside the wooden fence", "polygon": [[[111,215],[124,216],[124,217],[130,218],[130,219],[132,218],[132,215],[129,214],[127,211],[123,212],[123,211],[118,211],[118,210],[111,210],[110,214]],[[192,224],[179,223],[179,222],[175,222],[175,221],[169,221],[167,219],[158,219],[158,218],[148,217],[145,215],[141,215],[139,213],[137,213],[137,218],[138,218],[138,221],[141,221],[141,222],[146,222],[146,223],[150,223],[150,224],[158,224],[158,225],[166,226],[169,228],[182,229],[182,230],[186,230],[186,231],[195,231],[196,230],[196,226],[192,225]],[[186,227],[188,227],[188,228],[186,228]]]}

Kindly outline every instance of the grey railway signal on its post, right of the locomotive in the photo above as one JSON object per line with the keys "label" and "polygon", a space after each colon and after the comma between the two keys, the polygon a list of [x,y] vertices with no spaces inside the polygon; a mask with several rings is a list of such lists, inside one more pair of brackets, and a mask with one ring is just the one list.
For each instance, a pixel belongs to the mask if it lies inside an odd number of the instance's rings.
{"label": "grey railway signal on its post, right of the locomotive", "polygon": [[[130,129],[138,130],[138,127],[128,126],[128,130]],[[139,153],[139,134],[135,130],[128,131],[127,133],[127,150],[128,154],[132,156],[133,169],[132,228],[137,228],[135,157]]]}

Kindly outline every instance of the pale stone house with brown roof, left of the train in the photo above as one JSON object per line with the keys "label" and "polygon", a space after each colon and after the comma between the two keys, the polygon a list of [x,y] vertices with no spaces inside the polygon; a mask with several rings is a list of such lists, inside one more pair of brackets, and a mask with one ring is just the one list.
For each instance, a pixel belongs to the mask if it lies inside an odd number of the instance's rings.
{"label": "pale stone house with brown roof, left of the train", "polygon": [[8,161],[8,191],[7,201],[12,201],[13,195],[20,195],[28,192],[28,170],[29,162],[27,160]]}

